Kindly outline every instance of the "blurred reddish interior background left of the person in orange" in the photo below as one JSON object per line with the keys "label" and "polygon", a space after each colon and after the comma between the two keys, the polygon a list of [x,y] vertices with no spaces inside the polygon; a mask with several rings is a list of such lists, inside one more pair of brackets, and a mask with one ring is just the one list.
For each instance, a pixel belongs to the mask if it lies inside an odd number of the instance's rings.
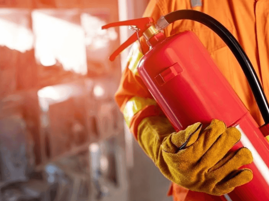
{"label": "blurred reddish interior background left of the person in orange", "polygon": [[114,102],[149,0],[0,0],[0,201],[151,201],[170,182]]}

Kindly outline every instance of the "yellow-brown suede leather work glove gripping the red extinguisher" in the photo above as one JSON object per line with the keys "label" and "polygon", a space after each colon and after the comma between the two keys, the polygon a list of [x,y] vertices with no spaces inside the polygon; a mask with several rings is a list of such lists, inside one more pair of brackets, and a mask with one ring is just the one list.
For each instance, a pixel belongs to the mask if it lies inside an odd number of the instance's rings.
{"label": "yellow-brown suede leather work glove gripping the red extinguisher", "polygon": [[253,178],[247,148],[229,150],[241,138],[239,130],[217,119],[202,129],[200,122],[178,133],[167,118],[149,117],[138,126],[140,146],[169,180],[192,191],[224,195]]}

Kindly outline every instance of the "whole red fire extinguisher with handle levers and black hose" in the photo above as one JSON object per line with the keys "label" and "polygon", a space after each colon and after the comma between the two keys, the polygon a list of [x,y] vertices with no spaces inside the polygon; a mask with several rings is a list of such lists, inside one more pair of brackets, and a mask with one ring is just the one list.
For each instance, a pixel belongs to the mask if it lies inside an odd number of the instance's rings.
{"label": "whole red fire extinguisher with handle levers and black hose", "polygon": [[[210,54],[192,31],[165,37],[162,30],[180,19],[198,21],[217,33],[228,45],[247,77],[265,124],[255,122],[231,85],[222,75]],[[132,19],[107,24],[102,28],[130,25],[136,30],[111,56],[115,57],[137,37],[144,36],[150,50],[138,64],[138,73],[146,87],[179,131],[195,123],[210,123],[216,118],[241,132],[240,142],[232,149],[247,147],[253,163],[253,180],[236,187],[222,200],[269,201],[269,105],[249,58],[235,37],[216,19],[199,11],[179,10],[160,17]]]}

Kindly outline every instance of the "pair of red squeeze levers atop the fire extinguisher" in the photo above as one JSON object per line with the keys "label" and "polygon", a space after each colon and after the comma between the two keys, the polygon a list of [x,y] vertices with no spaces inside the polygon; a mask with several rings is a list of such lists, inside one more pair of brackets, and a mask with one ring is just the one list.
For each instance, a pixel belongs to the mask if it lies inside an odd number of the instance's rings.
{"label": "pair of red squeeze levers atop the fire extinguisher", "polygon": [[[142,36],[143,32],[147,30],[151,26],[151,24],[154,23],[153,18],[151,17],[144,17],[144,18],[139,18],[139,19],[131,19],[131,20],[126,20],[126,21],[121,21],[121,22],[113,22],[110,24],[106,24],[102,26],[102,29],[107,29],[110,27],[117,27],[117,26],[128,26],[128,25],[133,25],[136,26],[138,30],[138,35],[139,37]],[[137,34],[134,33],[130,38],[128,38],[127,41],[125,41],[122,45],[119,46],[118,49],[114,51],[109,57],[110,61],[114,61],[114,59],[129,45],[134,43],[137,40]]]}

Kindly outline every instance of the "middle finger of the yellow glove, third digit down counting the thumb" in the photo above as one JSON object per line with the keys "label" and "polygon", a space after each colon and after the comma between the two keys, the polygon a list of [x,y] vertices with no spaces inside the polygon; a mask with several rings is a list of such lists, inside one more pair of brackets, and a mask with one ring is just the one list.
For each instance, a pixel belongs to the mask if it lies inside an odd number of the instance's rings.
{"label": "middle finger of the yellow glove, third digit down counting the thumb", "polygon": [[240,131],[230,127],[216,140],[201,158],[199,165],[211,168],[216,165],[241,138]]}

